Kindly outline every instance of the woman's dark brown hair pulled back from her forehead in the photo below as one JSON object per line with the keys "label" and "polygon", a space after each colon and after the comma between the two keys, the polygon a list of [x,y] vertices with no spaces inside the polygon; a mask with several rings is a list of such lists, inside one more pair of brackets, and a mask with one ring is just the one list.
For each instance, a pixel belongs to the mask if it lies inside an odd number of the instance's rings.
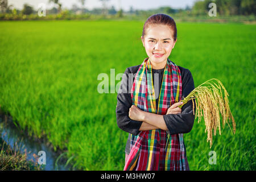
{"label": "woman's dark brown hair pulled back from her forehead", "polygon": [[169,26],[174,31],[174,41],[177,39],[177,27],[174,19],[166,14],[154,14],[148,17],[143,26],[142,37],[146,35],[146,30],[151,24],[164,24]]}

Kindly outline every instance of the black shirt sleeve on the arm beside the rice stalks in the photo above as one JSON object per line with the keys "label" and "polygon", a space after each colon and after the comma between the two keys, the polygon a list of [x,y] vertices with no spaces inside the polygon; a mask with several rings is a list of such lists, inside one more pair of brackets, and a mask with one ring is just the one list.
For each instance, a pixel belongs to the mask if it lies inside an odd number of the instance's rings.
{"label": "black shirt sleeve on the arm beside the rice stalks", "polygon": [[[187,97],[193,89],[195,89],[194,81],[189,69],[186,69],[186,73],[182,80],[182,97]],[[179,133],[189,133],[192,130],[195,115],[193,114],[193,102],[194,111],[196,111],[195,100],[190,100],[187,104],[181,107],[180,114],[166,114],[163,115],[164,122],[166,123],[168,133],[170,135]]]}

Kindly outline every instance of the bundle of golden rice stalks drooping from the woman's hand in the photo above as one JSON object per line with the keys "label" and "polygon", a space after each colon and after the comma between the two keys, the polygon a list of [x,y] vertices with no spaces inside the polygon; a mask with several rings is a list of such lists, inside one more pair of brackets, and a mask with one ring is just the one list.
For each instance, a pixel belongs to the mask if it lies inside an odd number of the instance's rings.
{"label": "bundle of golden rice stalks drooping from the woman's hand", "polygon": [[[221,89],[224,90],[224,99]],[[228,96],[229,94],[226,92],[226,89],[221,81],[216,78],[212,78],[197,86],[197,88],[193,89],[187,97],[181,100],[183,101],[183,104],[179,106],[180,108],[189,100],[192,100],[193,115],[195,115],[196,105],[195,119],[197,117],[199,118],[198,123],[201,121],[201,118],[204,117],[205,133],[206,131],[208,132],[207,142],[210,141],[210,148],[212,147],[212,131],[215,136],[218,129],[221,135],[220,113],[222,115],[222,127],[224,127],[226,123],[229,125],[229,121],[232,120],[233,134],[236,133],[236,122],[234,121],[233,115],[229,108]],[[230,125],[229,128],[232,130]]]}

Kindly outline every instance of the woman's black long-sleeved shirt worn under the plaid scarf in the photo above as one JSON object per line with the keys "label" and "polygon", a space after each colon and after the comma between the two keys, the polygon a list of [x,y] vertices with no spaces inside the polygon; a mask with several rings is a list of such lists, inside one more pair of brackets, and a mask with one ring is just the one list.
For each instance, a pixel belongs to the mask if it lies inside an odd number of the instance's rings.
{"label": "woman's black long-sleeved shirt worn under the plaid scarf", "polygon": [[[131,101],[131,86],[134,81],[135,74],[138,71],[140,65],[136,65],[133,67],[126,68],[125,73],[123,74],[121,85],[117,94],[117,107],[116,107],[116,117],[117,117],[117,125],[123,131],[129,133],[129,137],[127,139],[125,152],[126,154],[130,153],[130,134],[137,135],[139,133],[139,128],[142,125],[141,121],[135,121],[129,118],[129,109],[132,105]],[[187,97],[187,95],[195,88],[193,77],[191,72],[188,69],[178,66],[181,72],[181,83],[182,83],[182,96]],[[154,75],[158,75],[159,82],[155,82]],[[157,74],[158,73],[158,74]],[[160,93],[160,85],[162,85],[164,68],[163,69],[152,69],[152,78],[154,82],[154,88],[156,92],[156,108],[158,108],[158,100]],[[130,80],[129,80],[130,79]],[[157,93],[157,83],[158,93]],[[121,93],[122,91],[122,93]],[[195,101],[194,101],[195,107]],[[194,108],[194,110],[196,107]],[[179,133],[189,133],[193,127],[193,122],[195,119],[195,115],[193,115],[193,103],[192,101],[187,102],[187,104],[181,107],[180,114],[166,114],[163,115],[164,122],[166,123],[168,133],[179,134]],[[185,145],[184,145],[185,146]],[[186,156],[186,152],[185,152]]]}

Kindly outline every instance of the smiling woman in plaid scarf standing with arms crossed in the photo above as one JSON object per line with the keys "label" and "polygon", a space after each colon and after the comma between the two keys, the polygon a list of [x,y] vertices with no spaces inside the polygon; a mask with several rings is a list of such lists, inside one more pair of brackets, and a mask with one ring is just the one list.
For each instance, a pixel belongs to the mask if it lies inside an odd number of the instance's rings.
{"label": "smiling woman in plaid scarf standing with arms crossed", "polygon": [[195,86],[191,72],[168,59],[174,19],[150,16],[141,39],[148,57],[126,69],[117,96],[117,125],[129,133],[124,170],[189,170],[183,134],[193,127],[193,104],[178,106]]}

